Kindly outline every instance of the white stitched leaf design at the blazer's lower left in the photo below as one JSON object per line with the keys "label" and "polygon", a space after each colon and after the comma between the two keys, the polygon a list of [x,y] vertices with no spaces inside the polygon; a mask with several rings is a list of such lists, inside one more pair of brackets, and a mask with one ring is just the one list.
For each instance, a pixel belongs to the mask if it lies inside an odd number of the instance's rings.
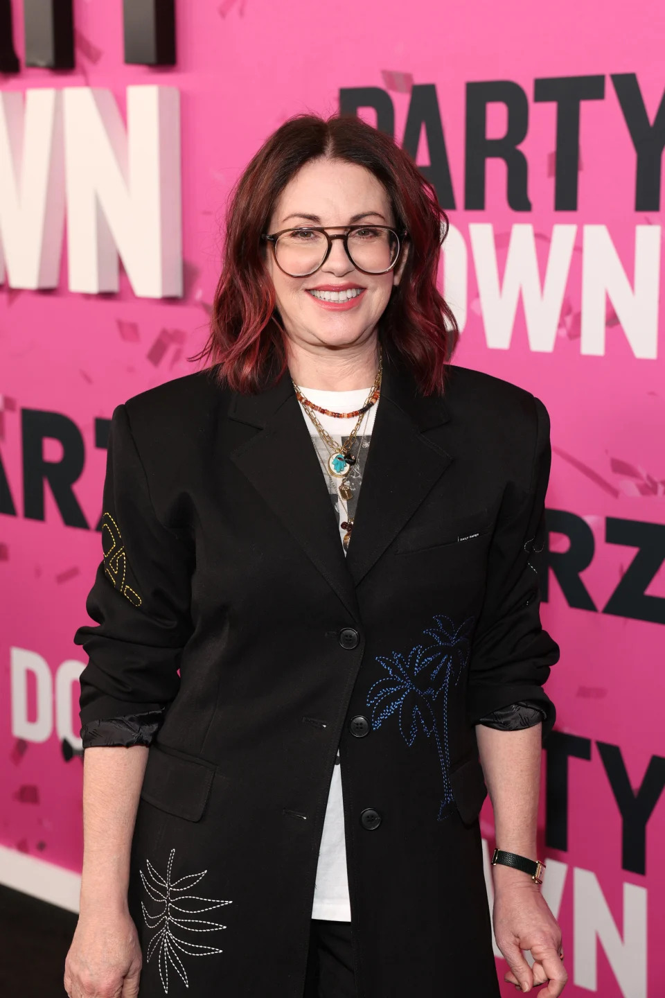
{"label": "white stitched leaf design at the blazer's lower left", "polygon": [[187,933],[216,932],[226,928],[226,926],[220,922],[189,916],[200,915],[203,911],[211,911],[213,908],[220,908],[225,904],[232,903],[231,901],[218,901],[212,897],[199,897],[196,894],[183,893],[198,883],[205,876],[207,870],[202,870],[200,873],[187,873],[178,880],[172,880],[171,870],[174,855],[175,849],[173,848],[168,854],[166,878],[157,871],[150,859],[146,861],[148,872],[144,873],[143,870],[140,870],[146,892],[155,902],[157,908],[155,912],[151,912],[144,902],[141,902],[147,927],[155,929],[155,935],[150,940],[146,951],[146,962],[150,963],[157,952],[158,968],[166,994],[168,993],[169,967],[175,970],[184,986],[189,987],[187,973],[177,951],[186,953],[188,956],[212,956],[213,953],[223,952],[216,946],[190,941],[187,939]]}

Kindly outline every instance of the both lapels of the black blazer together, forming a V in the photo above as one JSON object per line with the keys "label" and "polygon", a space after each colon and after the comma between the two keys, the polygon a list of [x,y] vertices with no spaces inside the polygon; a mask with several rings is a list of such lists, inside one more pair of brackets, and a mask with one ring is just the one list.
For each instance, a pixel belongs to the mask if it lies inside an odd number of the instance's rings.
{"label": "both lapels of the black blazer together, forming a V", "polygon": [[410,372],[384,350],[381,399],[346,555],[288,370],[266,391],[233,393],[227,416],[257,430],[248,439],[246,433],[238,437],[242,443],[230,459],[358,619],[356,586],[452,461],[428,436],[450,419],[445,400],[424,396]]}

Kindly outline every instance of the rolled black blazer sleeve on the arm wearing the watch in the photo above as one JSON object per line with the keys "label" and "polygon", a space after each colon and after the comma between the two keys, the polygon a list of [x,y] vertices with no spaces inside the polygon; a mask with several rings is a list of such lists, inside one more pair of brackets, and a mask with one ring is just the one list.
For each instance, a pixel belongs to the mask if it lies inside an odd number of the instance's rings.
{"label": "rolled black blazer sleeve on the arm wearing the watch", "polygon": [[510,482],[492,539],[488,583],[472,644],[468,712],[473,724],[508,704],[529,701],[545,712],[543,738],[556,717],[542,689],[558,645],[540,624],[538,571],[545,549],[544,501],[551,447],[549,416],[535,403],[530,485]]}

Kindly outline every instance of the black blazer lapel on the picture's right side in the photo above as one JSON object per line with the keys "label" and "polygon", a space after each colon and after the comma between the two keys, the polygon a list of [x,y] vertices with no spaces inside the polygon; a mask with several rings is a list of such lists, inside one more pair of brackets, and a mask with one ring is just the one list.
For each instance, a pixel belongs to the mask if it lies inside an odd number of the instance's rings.
{"label": "black blazer lapel on the picture's right side", "polygon": [[346,554],[356,586],[453,460],[428,435],[450,419],[443,397],[422,395],[412,375],[383,356],[381,399]]}

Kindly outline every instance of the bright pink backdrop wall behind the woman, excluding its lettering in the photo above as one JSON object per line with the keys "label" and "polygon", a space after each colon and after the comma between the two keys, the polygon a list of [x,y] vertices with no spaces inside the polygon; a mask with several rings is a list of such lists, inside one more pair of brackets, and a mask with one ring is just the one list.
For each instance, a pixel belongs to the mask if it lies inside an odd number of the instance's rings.
{"label": "bright pink backdrop wall behind the woman, excluding its lettering", "polygon": [[[547,508],[574,514],[592,532],[593,560],[580,578],[597,610],[637,554],[635,545],[605,540],[607,518],[660,525],[644,542],[649,557],[661,565],[648,573],[646,594],[665,600],[662,338],[654,356],[636,356],[620,308],[608,304],[604,353],[589,355],[582,350],[579,320],[582,261],[584,252],[593,251],[583,246],[582,227],[607,227],[632,284],[636,226],[659,225],[658,206],[635,210],[635,152],[610,74],[636,74],[653,122],[665,87],[665,8],[654,0],[636,0],[629,10],[616,2],[561,0],[549,13],[526,0],[452,6],[416,0],[408,7],[396,0],[342,0],[334,7],[291,0],[287,8],[267,0],[205,0],[177,6],[173,70],[124,65],[122,4],[76,0],[77,69],[25,70],[1,80],[3,89],[18,91],[107,88],[123,113],[130,84],[159,83],[180,91],[182,299],[138,298],[124,273],[118,294],[72,294],[66,253],[58,289],[19,291],[5,285],[0,291],[0,458],[16,507],[15,516],[0,514],[0,843],[72,870],[80,870],[82,855],[82,766],[77,757],[65,761],[55,725],[41,743],[15,737],[11,650],[41,656],[54,677],[63,662],[81,660],[72,637],[86,619],[85,598],[101,557],[94,528],[106,452],[95,446],[95,419],[108,419],[120,401],[193,369],[185,355],[205,336],[230,185],[274,128],[297,111],[334,111],[340,88],[380,87],[389,93],[401,141],[412,84],[436,85],[458,206],[450,216],[469,262],[468,320],[456,360],[523,385],[547,406],[554,449]],[[22,53],[20,14],[21,4],[15,3],[15,42]],[[555,107],[533,102],[533,81],[586,75],[605,77],[605,98],[581,108],[577,211],[554,212]],[[486,210],[464,210],[466,87],[491,80],[512,80],[528,98],[529,127],[520,149],[528,163],[530,213],[508,207],[505,167],[499,162],[488,166]],[[504,128],[505,111],[496,106],[488,118],[489,135],[500,136]],[[421,165],[428,155],[422,141]],[[521,303],[509,347],[488,345],[493,317],[487,300],[479,299],[469,230],[483,223],[494,226],[499,277],[514,225],[532,225],[538,234],[541,278],[552,227],[577,227],[553,349],[529,347]],[[26,409],[62,414],[83,435],[85,468],[74,491],[89,530],[63,524],[48,486],[45,520],[23,515],[21,410]],[[47,440],[44,458],[61,456],[60,444]],[[656,558],[658,544],[663,550]],[[551,533],[552,552],[566,546],[562,534]],[[641,588],[635,580],[634,606],[639,607],[645,585],[646,579]],[[649,606],[660,623],[571,607],[569,594],[549,575],[542,617],[560,644],[561,659],[547,689],[557,705],[558,732],[589,740],[590,758],[569,761],[567,849],[544,841],[543,792],[541,853],[555,860],[548,869],[550,890],[556,886],[560,898],[550,903],[560,901],[570,975],[566,993],[580,998],[589,991],[603,998],[665,994],[665,798],[660,794],[665,615],[659,610],[665,603],[652,600]],[[78,734],[77,696],[74,683]],[[53,710],[55,718],[55,704]],[[29,686],[30,717],[36,711]],[[647,807],[653,805],[642,871],[634,868],[634,849],[622,866],[621,813],[597,743],[618,747],[633,794],[651,762],[644,798],[650,793],[656,802],[651,799]],[[483,831],[491,840],[489,806]],[[628,837],[634,842],[641,834],[633,829]],[[646,950],[640,931],[645,920]],[[500,961],[500,977],[504,969]],[[513,990],[506,987],[504,993]]]}

